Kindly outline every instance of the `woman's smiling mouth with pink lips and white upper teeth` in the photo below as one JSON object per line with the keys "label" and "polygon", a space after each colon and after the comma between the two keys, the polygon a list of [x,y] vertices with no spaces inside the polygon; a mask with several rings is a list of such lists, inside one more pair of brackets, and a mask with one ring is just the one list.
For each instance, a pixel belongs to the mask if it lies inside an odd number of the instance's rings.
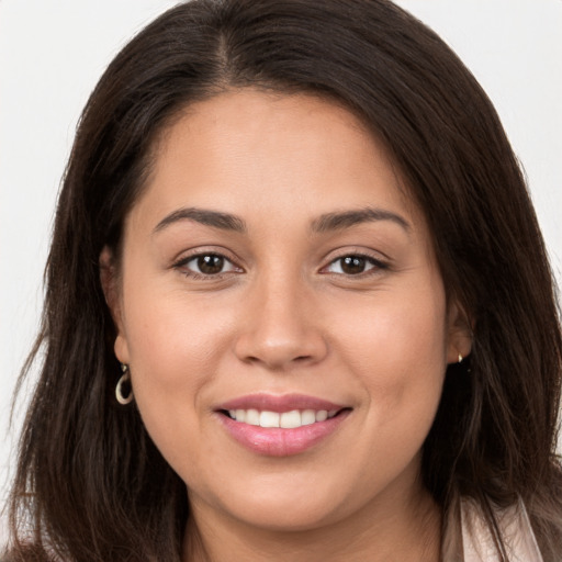
{"label": "woman's smiling mouth with pink lips and white upper teeth", "polygon": [[227,435],[246,449],[269,457],[303,453],[335,435],[350,406],[302,395],[258,394],[215,409]]}

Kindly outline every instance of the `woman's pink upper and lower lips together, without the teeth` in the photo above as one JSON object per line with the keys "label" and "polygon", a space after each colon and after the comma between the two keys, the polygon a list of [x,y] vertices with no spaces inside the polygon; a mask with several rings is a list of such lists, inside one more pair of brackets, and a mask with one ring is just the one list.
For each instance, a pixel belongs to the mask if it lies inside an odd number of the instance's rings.
{"label": "woman's pink upper and lower lips together, without the teeth", "polygon": [[[311,425],[293,429],[280,427],[266,428],[236,422],[224,412],[228,409],[258,409],[269,412],[291,412],[293,409],[337,409],[335,417],[325,422],[316,422]],[[321,441],[329,438],[351,412],[349,406],[335,404],[314,396],[302,394],[251,394],[240,396],[221,404],[215,408],[215,414],[226,432],[238,443],[252,452],[269,457],[290,457],[307,451]]]}

